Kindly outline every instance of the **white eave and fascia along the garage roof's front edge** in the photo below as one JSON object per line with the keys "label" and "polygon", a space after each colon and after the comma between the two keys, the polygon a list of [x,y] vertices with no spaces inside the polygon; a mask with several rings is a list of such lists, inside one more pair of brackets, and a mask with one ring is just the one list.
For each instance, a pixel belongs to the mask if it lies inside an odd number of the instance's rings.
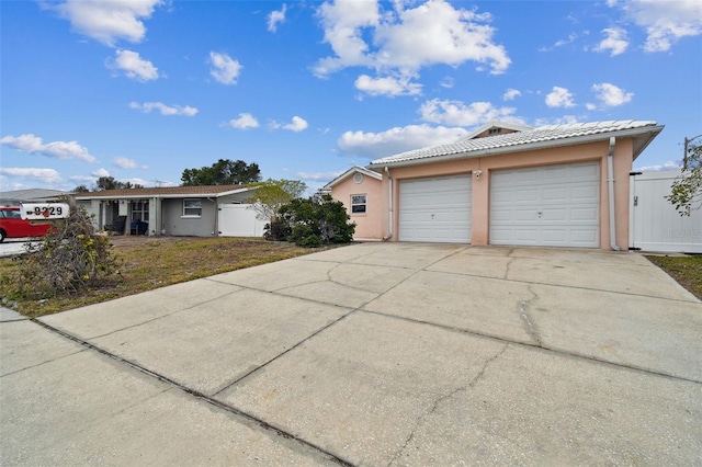
{"label": "white eave and fascia along the garage roof's front edge", "polygon": [[635,137],[639,135],[641,136],[647,135],[647,137],[645,138],[644,143],[642,143],[639,148],[638,149],[634,148],[634,159],[636,159],[636,157],[638,157],[638,155],[646,148],[646,146],[648,146],[650,141],[654,140],[654,138],[663,130],[663,128],[664,128],[664,125],[646,126],[641,128],[630,128],[630,129],[621,129],[621,130],[607,132],[607,133],[598,133],[595,135],[575,136],[571,138],[550,139],[546,141],[534,141],[534,143],[528,143],[523,145],[480,149],[480,150],[471,151],[471,152],[453,152],[449,155],[428,156],[423,158],[400,160],[395,162],[378,162],[378,163],[371,163],[369,166],[369,169],[383,170],[385,167],[388,167],[388,168],[408,167],[408,166],[418,166],[423,163],[448,162],[448,161],[458,160],[458,159],[475,159],[479,157],[500,156],[505,153],[524,152],[530,150],[597,143],[597,141],[607,140],[610,137],[626,138],[626,137]]}

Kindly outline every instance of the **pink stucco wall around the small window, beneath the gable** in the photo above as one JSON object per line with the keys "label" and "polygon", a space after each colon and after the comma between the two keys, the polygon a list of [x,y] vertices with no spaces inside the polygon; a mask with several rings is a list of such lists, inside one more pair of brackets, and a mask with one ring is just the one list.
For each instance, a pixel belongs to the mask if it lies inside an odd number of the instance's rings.
{"label": "pink stucco wall around the small window, beneath the gable", "polygon": [[[380,180],[367,175],[363,176],[361,183],[355,183],[353,175],[350,175],[333,185],[331,197],[343,203],[347,213],[351,216],[351,221],[355,223],[353,238],[356,240],[383,238],[383,213],[387,210],[387,192],[382,196],[382,186]],[[351,213],[351,195],[355,194],[366,195],[365,214]]]}

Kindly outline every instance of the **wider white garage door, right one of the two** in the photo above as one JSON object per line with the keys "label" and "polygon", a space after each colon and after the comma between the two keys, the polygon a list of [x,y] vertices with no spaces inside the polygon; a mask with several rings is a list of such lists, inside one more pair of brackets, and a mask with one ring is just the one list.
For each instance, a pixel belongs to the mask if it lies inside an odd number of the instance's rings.
{"label": "wider white garage door, right one of the two", "polygon": [[598,162],[495,171],[490,243],[600,246]]}

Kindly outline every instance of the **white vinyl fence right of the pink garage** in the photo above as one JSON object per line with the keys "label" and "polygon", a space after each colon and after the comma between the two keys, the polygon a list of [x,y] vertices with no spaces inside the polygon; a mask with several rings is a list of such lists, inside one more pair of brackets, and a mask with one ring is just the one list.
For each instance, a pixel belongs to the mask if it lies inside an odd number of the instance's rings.
{"label": "white vinyl fence right of the pink garage", "polygon": [[678,171],[632,175],[630,244],[652,252],[702,253],[702,209],[680,216],[665,198]]}

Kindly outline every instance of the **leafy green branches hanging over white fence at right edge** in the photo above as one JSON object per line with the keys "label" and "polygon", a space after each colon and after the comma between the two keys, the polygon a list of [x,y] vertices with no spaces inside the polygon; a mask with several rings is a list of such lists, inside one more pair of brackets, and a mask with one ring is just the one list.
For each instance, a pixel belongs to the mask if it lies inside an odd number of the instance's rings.
{"label": "leafy green branches hanging over white fence at right edge", "polygon": [[672,182],[666,196],[681,216],[702,207],[702,146],[686,139],[686,162],[682,174]]}

